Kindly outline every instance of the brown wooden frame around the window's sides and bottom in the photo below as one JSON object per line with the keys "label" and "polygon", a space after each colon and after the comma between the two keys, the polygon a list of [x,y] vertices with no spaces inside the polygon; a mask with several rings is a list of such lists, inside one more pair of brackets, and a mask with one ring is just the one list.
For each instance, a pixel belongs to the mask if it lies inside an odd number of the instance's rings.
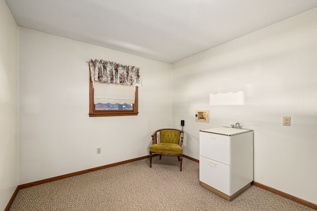
{"label": "brown wooden frame around the window's sides and bottom", "polygon": [[89,74],[89,116],[136,116],[138,115],[138,86],[135,86],[135,97],[132,110],[96,110],[94,102],[94,81]]}

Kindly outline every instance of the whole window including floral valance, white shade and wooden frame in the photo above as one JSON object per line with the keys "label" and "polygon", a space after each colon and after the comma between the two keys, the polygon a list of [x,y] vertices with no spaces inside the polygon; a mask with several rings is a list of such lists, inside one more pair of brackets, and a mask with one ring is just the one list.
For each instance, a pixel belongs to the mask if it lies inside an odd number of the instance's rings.
{"label": "whole window including floral valance, white shade and wooden frame", "polygon": [[140,68],[90,59],[89,69],[89,116],[138,115]]}

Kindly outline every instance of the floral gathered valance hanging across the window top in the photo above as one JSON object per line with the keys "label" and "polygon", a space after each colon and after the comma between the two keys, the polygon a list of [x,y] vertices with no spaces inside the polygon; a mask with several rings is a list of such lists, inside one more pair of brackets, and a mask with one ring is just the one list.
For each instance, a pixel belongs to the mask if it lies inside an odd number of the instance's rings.
{"label": "floral gathered valance hanging across the window top", "polygon": [[89,66],[92,81],[141,86],[139,67],[122,65],[113,61],[105,61],[102,59],[90,59]]}

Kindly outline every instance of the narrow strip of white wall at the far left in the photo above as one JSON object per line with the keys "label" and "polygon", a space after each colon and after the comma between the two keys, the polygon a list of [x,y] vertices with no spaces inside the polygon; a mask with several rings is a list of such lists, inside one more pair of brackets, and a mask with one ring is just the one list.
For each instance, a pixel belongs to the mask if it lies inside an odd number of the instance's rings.
{"label": "narrow strip of white wall at the far left", "polygon": [[18,27],[0,0],[0,210],[18,183]]}

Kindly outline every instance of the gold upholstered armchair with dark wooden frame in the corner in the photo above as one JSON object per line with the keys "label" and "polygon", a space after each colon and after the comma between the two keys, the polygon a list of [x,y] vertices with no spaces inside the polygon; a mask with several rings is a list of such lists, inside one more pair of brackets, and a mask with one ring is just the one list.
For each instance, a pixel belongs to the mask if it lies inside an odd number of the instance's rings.
{"label": "gold upholstered armchair with dark wooden frame in the corner", "polygon": [[[162,155],[177,156],[182,171],[183,161],[183,138],[184,132],[178,129],[164,128],[152,134],[152,145],[150,151],[150,167],[152,167],[152,156]],[[158,142],[159,139],[159,142]]]}

